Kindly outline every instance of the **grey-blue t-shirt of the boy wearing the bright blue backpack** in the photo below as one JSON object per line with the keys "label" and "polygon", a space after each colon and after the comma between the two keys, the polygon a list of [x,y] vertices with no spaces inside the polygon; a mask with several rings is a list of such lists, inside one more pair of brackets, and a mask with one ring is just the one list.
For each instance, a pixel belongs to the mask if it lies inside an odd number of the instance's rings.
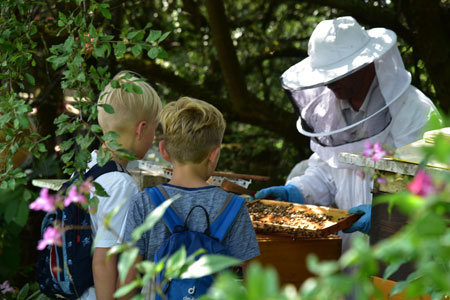
{"label": "grey-blue t-shirt of the boy wearing the bright blue backpack", "polygon": [[[207,210],[210,220],[214,220],[228,195],[227,192],[216,186],[185,188],[165,183],[163,187],[169,197],[181,194],[181,197],[175,200],[172,207],[182,221],[186,219],[187,214],[195,205],[203,206]],[[153,202],[145,191],[132,198],[125,227],[125,241],[131,240],[133,230],[144,222],[154,208]],[[203,210],[194,209],[188,220],[189,229],[203,232],[206,229],[206,224]],[[164,221],[161,220],[151,230],[145,232],[136,243],[139,254],[142,254],[145,260],[153,261],[155,252],[169,236],[170,231]],[[242,261],[259,256],[255,230],[246,205],[242,205],[241,211],[223,240],[223,245],[231,256]]]}

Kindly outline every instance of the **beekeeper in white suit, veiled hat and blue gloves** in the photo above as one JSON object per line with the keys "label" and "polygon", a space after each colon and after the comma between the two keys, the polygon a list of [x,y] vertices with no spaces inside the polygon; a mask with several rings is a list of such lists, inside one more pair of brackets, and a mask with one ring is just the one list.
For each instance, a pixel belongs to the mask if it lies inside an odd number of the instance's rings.
{"label": "beekeeper in white suit, veiled hat and blue gloves", "polygon": [[[365,30],[352,17],[325,20],[314,29],[308,57],[281,76],[299,116],[297,129],[311,137],[314,154],[301,176],[255,198],[337,206],[363,214],[347,233],[370,230],[372,182],[360,168],[338,161],[341,152],[363,152],[366,141],[398,148],[421,138],[433,103],[411,85],[394,32]],[[355,233],[356,234],[356,233]],[[342,234],[343,250],[351,234]]]}

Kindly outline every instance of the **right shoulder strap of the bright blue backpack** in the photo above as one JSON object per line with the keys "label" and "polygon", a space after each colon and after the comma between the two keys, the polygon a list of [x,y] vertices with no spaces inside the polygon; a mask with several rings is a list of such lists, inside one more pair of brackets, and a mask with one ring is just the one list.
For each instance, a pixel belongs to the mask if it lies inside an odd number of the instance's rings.
{"label": "right shoulder strap of the bright blue backpack", "polygon": [[231,225],[241,211],[244,202],[244,198],[231,193],[228,194],[223,207],[220,209],[210,227],[211,234],[218,238],[219,241],[222,241],[227,235]]}

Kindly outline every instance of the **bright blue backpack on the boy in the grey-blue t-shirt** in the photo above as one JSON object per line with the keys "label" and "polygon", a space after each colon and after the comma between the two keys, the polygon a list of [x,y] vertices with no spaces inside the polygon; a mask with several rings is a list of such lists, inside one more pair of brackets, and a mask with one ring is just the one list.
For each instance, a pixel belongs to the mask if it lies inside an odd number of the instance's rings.
{"label": "bright blue backpack on the boy in the grey-blue t-shirt", "polygon": [[[155,207],[163,203],[165,199],[169,198],[161,185],[153,188],[146,188],[145,190]],[[171,235],[163,242],[155,253],[155,263],[172,255],[183,245],[186,248],[188,256],[198,249],[205,249],[208,254],[229,255],[227,249],[222,244],[222,241],[227,235],[231,225],[234,223],[243,204],[243,198],[229,194],[227,201],[225,201],[222,209],[219,210],[218,216],[211,223],[208,212],[201,205],[192,207],[184,222],[181,221],[174,209],[169,207],[164,213],[163,219],[169,228]],[[191,231],[187,226],[189,216],[192,211],[197,208],[202,209],[205,213],[207,228],[204,232]],[[163,280],[164,269],[157,275],[156,283],[161,284]],[[194,300],[201,295],[206,294],[213,281],[213,275],[194,279],[173,279],[162,287],[162,291],[169,300]],[[156,295],[156,299],[161,300],[161,297]]]}

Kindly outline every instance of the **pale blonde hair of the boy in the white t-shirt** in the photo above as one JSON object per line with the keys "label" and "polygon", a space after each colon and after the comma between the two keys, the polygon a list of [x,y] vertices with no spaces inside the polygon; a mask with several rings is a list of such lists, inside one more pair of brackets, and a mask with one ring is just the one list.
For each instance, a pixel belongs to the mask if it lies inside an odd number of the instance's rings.
{"label": "pale blonde hair of the boy in the white t-shirt", "polygon": [[[113,81],[118,82],[121,87],[114,88],[110,82],[98,100],[98,104],[109,104],[114,108],[114,113],[110,114],[101,106],[98,107],[98,123],[103,132],[112,130],[122,133],[136,122],[158,120],[162,109],[161,100],[148,83],[130,71],[119,72]],[[138,86],[142,93],[125,91],[125,84]]]}

